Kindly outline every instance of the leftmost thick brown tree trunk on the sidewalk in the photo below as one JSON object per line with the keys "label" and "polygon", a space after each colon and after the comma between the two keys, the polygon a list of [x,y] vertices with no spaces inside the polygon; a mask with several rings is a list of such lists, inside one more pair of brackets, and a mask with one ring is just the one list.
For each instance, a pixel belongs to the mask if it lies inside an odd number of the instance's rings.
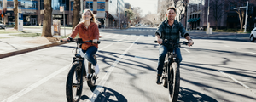
{"label": "leftmost thick brown tree trunk on the sidewalk", "polygon": [[43,20],[43,31],[42,37],[53,37],[51,34],[51,0],[44,0],[44,20]]}

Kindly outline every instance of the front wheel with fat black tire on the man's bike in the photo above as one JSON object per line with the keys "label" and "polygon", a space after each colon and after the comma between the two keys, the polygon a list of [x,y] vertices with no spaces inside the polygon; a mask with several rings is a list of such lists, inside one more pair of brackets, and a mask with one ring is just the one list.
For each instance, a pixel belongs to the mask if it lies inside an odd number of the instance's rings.
{"label": "front wheel with fat black tire on the man's bike", "polygon": [[180,86],[180,74],[179,74],[179,64],[173,62],[170,66],[170,70],[168,72],[168,90],[169,90],[169,100],[171,102],[176,102],[179,93]]}

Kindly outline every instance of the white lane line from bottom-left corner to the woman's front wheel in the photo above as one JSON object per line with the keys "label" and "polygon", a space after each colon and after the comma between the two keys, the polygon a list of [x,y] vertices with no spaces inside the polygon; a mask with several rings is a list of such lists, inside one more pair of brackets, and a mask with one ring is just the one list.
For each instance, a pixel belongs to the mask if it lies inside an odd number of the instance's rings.
{"label": "white lane line from bottom-left corner to the woman's front wheel", "polygon": [[60,74],[62,71],[65,71],[69,68],[71,64],[64,66],[63,68],[61,68],[58,71],[55,71],[54,73],[50,74],[47,77],[44,77],[43,79],[41,79],[38,82],[33,83],[32,85],[28,86],[27,88],[24,88],[22,90],[20,90],[20,92],[13,94],[12,96],[10,96],[7,99],[4,99],[2,102],[12,102],[15,99],[20,98],[20,96],[30,92],[32,89],[37,88],[39,85],[43,84],[44,82],[47,82],[49,79],[51,79],[52,77],[55,77],[56,75]]}

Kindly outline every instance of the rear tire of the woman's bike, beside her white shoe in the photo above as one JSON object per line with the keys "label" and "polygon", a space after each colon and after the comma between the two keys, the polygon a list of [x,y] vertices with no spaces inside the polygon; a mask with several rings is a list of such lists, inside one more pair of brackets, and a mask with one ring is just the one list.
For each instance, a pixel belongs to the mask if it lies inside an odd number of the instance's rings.
{"label": "rear tire of the woman's bike, beside her white shoe", "polygon": [[[96,55],[93,55],[93,58],[96,60],[96,63],[97,63]],[[89,68],[90,74],[92,74],[92,76],[88,79],[87,85],[90,88],[93,88],[93,87],[95,87],[97,77],[96,77],[96,73],[93,69],[93,65],[89,61],[88,61],[88,68]]]}

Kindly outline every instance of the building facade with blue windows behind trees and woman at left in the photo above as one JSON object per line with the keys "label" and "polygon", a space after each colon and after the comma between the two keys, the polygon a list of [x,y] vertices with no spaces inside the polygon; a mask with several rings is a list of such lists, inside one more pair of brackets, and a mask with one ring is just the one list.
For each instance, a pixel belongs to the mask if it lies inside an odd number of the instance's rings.
{"label": "building facade with blue windows behind trees and woman at left", "polygon": [[[15,22],[13,12],[13,0],[0,0],[3,6],[3,22],[11,24]],[[113,27],[117,23],[119,13],[125,13],[124,0],[83,0],[82,9],[89,8],[96,14],[96,18],[106,27]],[[23,14],[24,25],[41,26],[44,17],[44,0],[18,0],[19,12]],[[72,26],[73,22],[73,0],[52,0],[53,20],[60,20],[64,24],[64,18],[67,26]],[[64,12],[60,12],[60,7],[64,6]]]}

